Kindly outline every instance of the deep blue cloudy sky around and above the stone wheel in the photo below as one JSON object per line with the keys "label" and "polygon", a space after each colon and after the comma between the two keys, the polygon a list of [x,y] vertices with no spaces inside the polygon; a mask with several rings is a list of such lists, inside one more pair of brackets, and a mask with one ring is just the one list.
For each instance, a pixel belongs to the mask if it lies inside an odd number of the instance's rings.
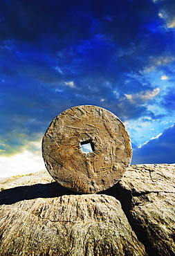
{"label": "deep blue cloudy sky around and above the stone wheel", "polygon": [[42,138],[89,104],[124,122],[131,164],[175,163],[174,0],[0,0],[0,176],[45,168]]}

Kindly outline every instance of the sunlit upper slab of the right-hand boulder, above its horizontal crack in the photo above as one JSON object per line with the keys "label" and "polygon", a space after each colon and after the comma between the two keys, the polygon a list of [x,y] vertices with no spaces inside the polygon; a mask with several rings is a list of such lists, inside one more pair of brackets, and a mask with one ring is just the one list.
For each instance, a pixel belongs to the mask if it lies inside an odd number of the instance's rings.
{"label": "sunlit upper slab of the right-hand boulder, above its horizontal crack", "polygon": [[131,165],[120,186],[133,193],[175,192],[175,164]]}

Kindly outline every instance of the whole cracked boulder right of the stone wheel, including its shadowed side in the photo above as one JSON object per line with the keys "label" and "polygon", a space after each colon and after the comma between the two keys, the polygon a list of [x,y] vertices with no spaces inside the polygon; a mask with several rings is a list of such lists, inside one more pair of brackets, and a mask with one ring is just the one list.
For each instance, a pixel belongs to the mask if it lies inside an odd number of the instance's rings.
{"label": "whole cracked boulder right of the stone wheel, including its shadowed side", "polygon": [[149,255],[175,255],[175,165],[131,165],[116,194]]}

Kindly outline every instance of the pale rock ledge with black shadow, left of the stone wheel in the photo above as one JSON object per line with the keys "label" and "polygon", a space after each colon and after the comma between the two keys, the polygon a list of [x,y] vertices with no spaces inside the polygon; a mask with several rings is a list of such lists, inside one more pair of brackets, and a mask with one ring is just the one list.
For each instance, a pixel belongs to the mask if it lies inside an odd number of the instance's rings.
{"label": "pale rock ledge with black shadow, left of the stone wheel", "polygon": [[59,185],[46,170],[24,176],[0,178],[0,205],[65,194],[75,193]]}

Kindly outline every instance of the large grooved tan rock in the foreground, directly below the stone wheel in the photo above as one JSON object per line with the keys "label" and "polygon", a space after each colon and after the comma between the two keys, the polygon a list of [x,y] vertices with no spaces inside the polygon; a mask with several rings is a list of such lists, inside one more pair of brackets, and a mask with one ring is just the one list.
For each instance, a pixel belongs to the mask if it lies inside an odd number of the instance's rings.
{"label": "large grooved tan rock in the foreground, directly below the stone wheel", "polygon": [[112,196],[69,195],[1,205],[1,255],[146,255]]}

